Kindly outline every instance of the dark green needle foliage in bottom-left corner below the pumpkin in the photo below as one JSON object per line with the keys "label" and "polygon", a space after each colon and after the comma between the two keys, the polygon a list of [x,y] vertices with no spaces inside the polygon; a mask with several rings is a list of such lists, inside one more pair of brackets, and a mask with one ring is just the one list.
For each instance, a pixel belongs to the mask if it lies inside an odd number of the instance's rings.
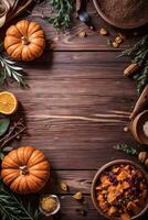
{"label": "dark green needle foliage in bottom-left corner below the pumpkin", "polygon": [[0,190],[0,219],[1,220],[39,220],[39,210],[33,210],[30,202],[7,186],[2,185]]}

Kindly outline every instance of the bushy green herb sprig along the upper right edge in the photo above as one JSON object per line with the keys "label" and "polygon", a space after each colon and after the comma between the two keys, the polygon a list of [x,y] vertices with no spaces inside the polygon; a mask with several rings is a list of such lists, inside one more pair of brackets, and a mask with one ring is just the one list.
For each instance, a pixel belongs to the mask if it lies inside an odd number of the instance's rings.
{"label": "bushy green herb sprig along the upper right edge", "polygon": [[138,94],[141,94],[148,84],[148,35],[145,35],[133,47],[125,50],[120,56],[125,55],[130,56],[131,63],[139,66],[131,77],[137,81]]}

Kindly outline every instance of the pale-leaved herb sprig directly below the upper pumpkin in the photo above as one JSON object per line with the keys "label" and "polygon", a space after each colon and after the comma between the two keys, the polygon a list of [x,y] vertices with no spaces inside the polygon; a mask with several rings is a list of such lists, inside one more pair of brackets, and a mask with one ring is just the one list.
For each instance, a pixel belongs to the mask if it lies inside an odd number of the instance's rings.
{"label": "pale-leaved herb sprig directly below the upper pumpkin", "polygon": [[8,78],[15,80],[19,86],[28,87],[22,68],[15,65],[15,62],[10,61],[3,55],[2,44],[0,44],[0,84],[8,81]]}

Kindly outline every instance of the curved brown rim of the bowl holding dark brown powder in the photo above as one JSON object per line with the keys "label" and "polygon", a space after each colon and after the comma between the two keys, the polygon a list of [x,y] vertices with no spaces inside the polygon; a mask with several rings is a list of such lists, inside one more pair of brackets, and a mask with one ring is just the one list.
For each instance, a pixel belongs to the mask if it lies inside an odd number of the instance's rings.
{"label": "curved brown rim of the bowl holding dark brown powder", "polygon": [[145,19],[144,21],[140,21],[140,22],[135,22],[134,24],[125,24],[124,22],[116,22],[116,21],[113,21],[112,19],[109,19],[104,12],[103,10],[101,9],[99,7],[99,3],[98,3],[99,0],[93,0],[94,2],[94,6],[95,6],[95,9],[97,10],[98,14],[102,16],[103,20],[105,20],[108,24],[113,25],[113,26],[116,26],[118,29],[126,29],[126,30],[130,30],[130,29],[137,29],[137,28],[140,28],[140,26],[144,26],[148,23],[148,19]]}

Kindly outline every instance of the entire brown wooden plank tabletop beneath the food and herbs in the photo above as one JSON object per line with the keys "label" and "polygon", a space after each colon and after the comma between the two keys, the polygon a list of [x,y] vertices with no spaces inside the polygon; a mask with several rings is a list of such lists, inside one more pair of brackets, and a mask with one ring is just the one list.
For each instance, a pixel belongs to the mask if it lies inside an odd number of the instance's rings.
{"label": "entire brown wooden plank tabletop beneath the food and herbs", "polygon": [[[116,152],[118,143],[136,144],[124,127],[137,99],[136,85],[124,78],[127,57],[118,58],[123,47],[131,44],[133,34],[117,50],[109,47],[106,37],[98,34],[107,28],[116,36],[118,31],[98,18],[92,1],[88,12],[96,31],[89,31],[78,21],[72,30],[57,33],[40,15],[49,14],[43,3],[29,15],[38,21],[46,33],[47,45],[44,55],[30,64],[22,64],[30,89],[15,85],[9,87],[23,106],[28,134],[21,145],[41,148],[51,162],[51,182],[45,193],[61,197],[62,220],[103,220],[94,209],[89,190],[96,170],[114,158],[130,158]],[[86,30],[87,37],[78,33]],[[64,180],[70,190],[60,189]],[[72,195],[82,191],[87,204],[81,205]],[[84,207],[87,216],[76,212]],[[50,219],[50,218],[42,218]],[[142,220],[147,219],[142,217]]]}

